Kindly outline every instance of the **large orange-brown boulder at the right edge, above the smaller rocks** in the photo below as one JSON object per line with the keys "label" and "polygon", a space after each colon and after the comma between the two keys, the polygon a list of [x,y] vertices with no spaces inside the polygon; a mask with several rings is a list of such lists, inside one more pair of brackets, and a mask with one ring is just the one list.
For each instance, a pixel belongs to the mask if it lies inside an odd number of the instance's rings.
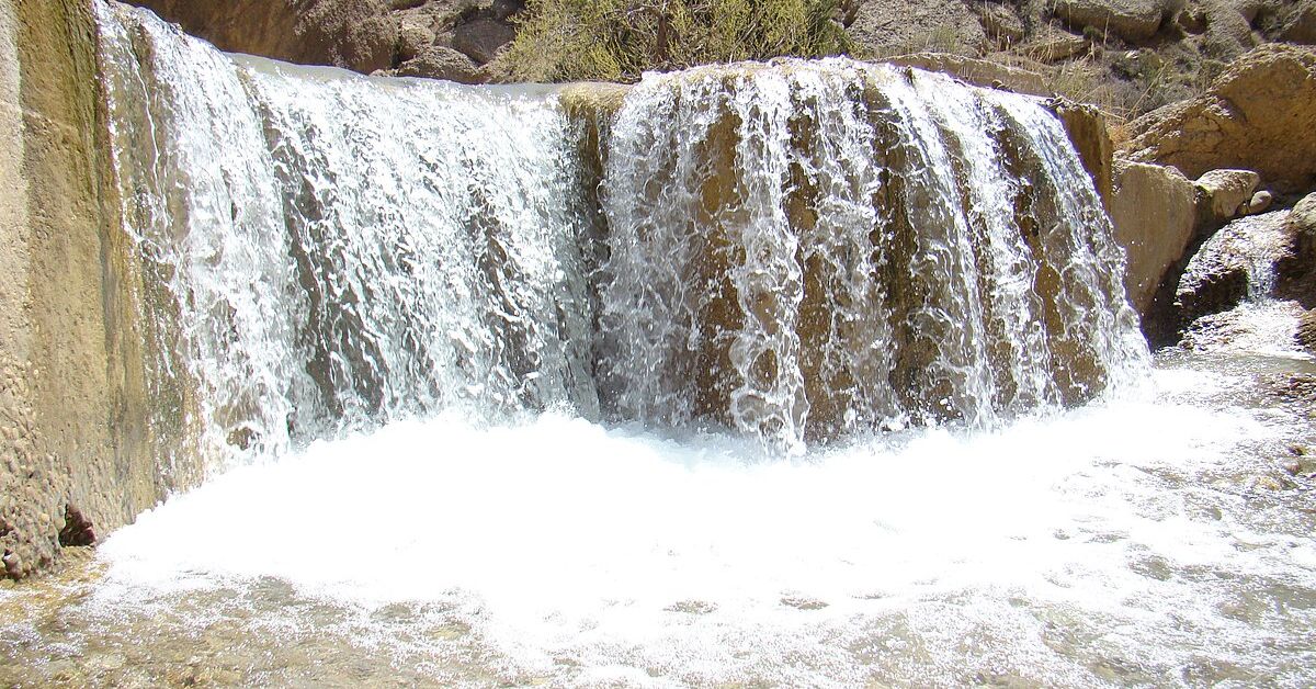
{"label": "large orange-brown boulder at the right edge, above the smaller rocks", "polygon": [[1316,50],[1258,47],[1196,99],[1130,125],[1129,158],[1173,165],[1191,178],[1208,170],[1255,170],[1282,192],[1316,186]]}

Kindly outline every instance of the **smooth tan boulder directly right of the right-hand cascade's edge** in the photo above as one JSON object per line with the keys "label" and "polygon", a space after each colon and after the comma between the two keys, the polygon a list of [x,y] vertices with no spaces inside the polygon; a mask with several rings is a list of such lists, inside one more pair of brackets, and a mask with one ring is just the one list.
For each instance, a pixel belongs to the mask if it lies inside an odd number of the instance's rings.
{"label": "smooth tan boulder directly right of the right-hand cascade's edge", "polygon": [[1174,167],[1120,163],[1111,220],[1115,238],[1128,254],[1124,287],[1129,303],[1146,315],[1166,271],[1192,241],[1196,225],[1192,183]]}

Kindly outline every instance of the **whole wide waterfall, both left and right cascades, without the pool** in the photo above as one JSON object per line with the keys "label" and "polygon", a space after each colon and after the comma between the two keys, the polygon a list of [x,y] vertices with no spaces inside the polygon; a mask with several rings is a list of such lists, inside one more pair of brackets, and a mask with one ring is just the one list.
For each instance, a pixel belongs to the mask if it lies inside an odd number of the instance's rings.
{"label": "whole wide waterfall, both left and right cascades, without the pool", "polygon": [[583,117],[555,87],[295,67],[97,13],[155,385],[215,465],[547,408],[797,453],[991,427],[1145,365],[1037,99],[780,61],[647,75]]}

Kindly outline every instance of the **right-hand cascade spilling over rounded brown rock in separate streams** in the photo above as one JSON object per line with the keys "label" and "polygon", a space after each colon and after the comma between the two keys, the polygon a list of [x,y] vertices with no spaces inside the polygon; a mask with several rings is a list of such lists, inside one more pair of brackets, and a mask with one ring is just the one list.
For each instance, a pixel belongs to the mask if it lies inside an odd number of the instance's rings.
{"label": "right-hand cascade spilling over rounded brown rock in separate streams", "polygon": [[786,448],[1087,399],[1145,362],[1123,258],[1033,100],[849,61],[650,75],[607,140],[622,418]]}

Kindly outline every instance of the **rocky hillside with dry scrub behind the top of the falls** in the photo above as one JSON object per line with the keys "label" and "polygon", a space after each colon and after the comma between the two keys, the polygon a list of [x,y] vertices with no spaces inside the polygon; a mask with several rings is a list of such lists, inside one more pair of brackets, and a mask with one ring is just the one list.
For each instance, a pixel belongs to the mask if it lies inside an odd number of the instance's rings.
{"label": "rocky hillside with dry scrub behind the top of the falls", "polygon": [[[720,17],[719,12],[741,12],[740,5],[758,7],[736,0],[134,1],[226,50],[463,83],[513,76],[597,78],[596,69],[571,67],[580,61],[580,47],[562,36],[579,33],[579,26],[590,22],[626,33],[616,42],[637,43],[640,47],[632,53],[640,54],[628,58],[642,66],[684,66],[674,63],[670,55],[671,46],[695,33],[683,17]],[[1261,43],[1316,43],[1316,0],[800,0],[795,4],[826,11],[829,21],[849,36],[849,41],[826,42],[820,50],[862,58],[909,53],[986,58],[1038,72],[1053,91],[1096,103],[1120,117],[1203,92],[1228,65]],[[682,21],[687,22],[684,28]],[[561,24],[563,29],[546,30],[545,22]],[[537,30],[519,37],[521,26]],[[776,53],[801,50],[799,41],[776,41],[769,42],[767,53],[772,45],[778,46]],[[717,58],[726,51],[708,53]],[[615,76],[633,79],[637,71],[619,70]]]}

